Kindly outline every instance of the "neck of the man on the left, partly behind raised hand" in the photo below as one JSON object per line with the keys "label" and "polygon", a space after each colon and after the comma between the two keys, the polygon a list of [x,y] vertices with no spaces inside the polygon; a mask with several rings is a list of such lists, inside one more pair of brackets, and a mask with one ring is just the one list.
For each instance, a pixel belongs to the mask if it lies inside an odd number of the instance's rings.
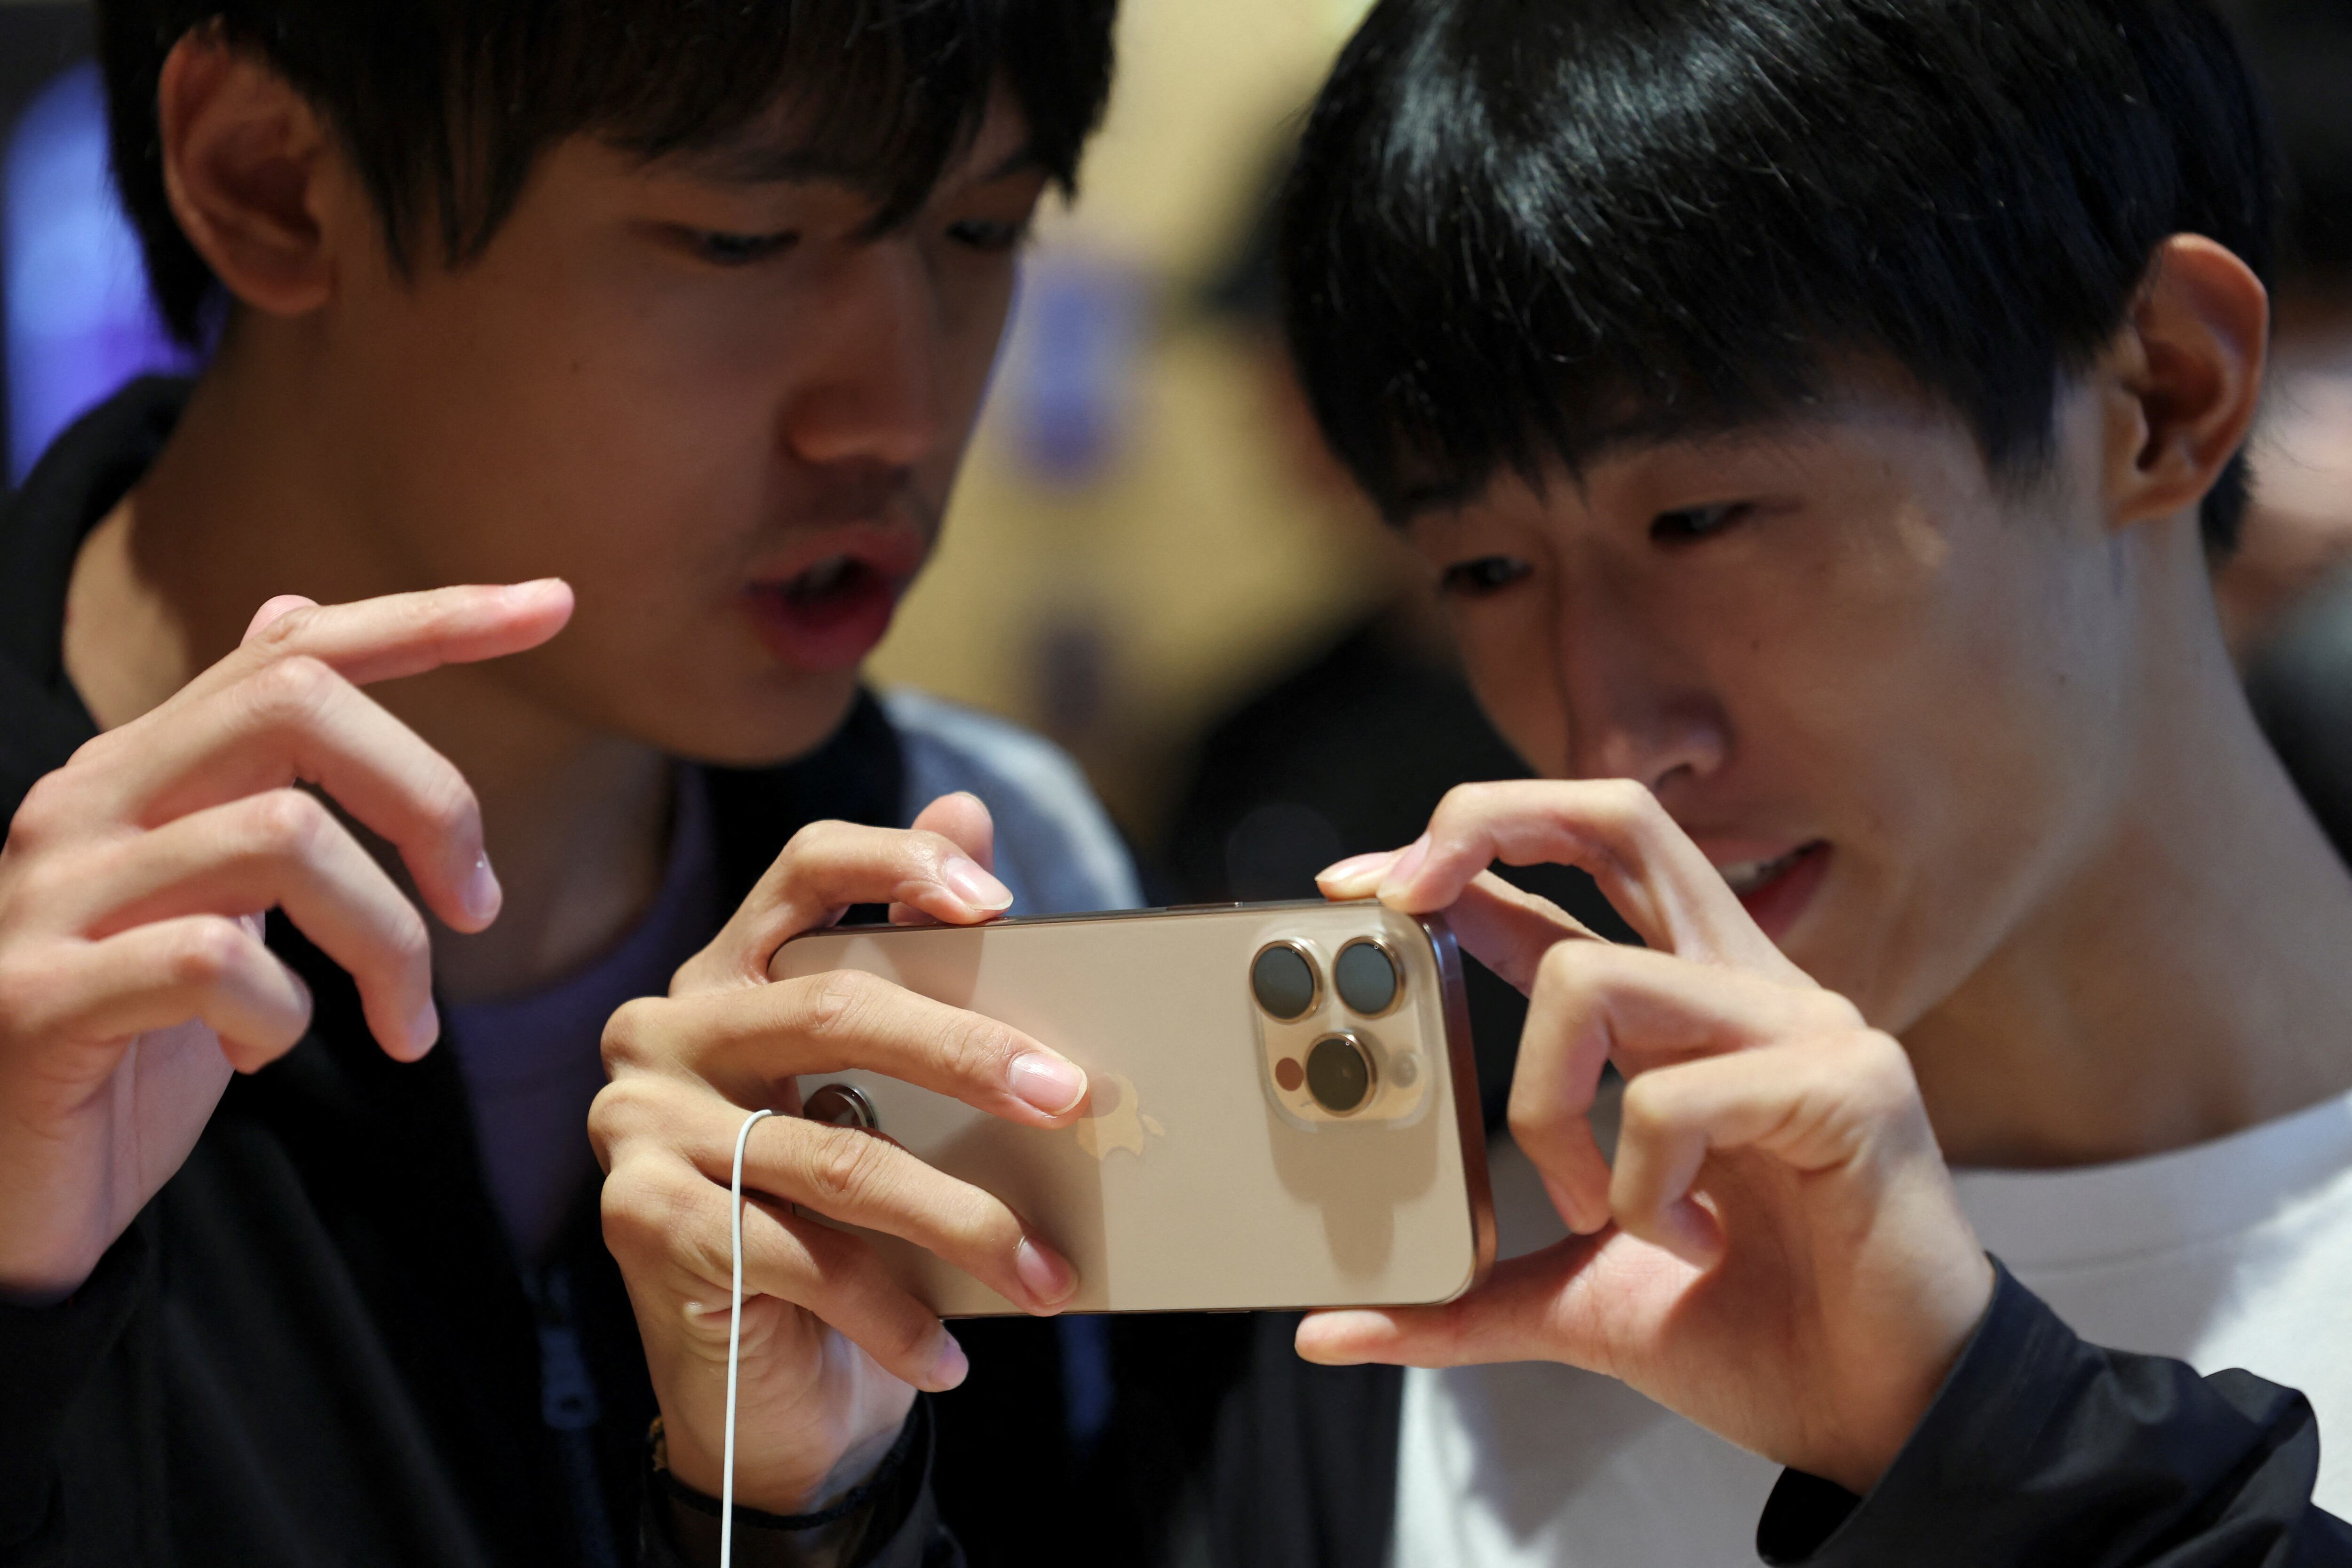
{"label": "neck of the man on the left, partly behind raised hand", "polygon": [[[318,402],[287,364],[296,353],[273,348],[263,371],[263,350],[230,334],[162,458],[75,559],[66,670],[103,729],[230,654],[270,595],[348,604],[435,585],[355,494],[365,463],[336,456],[332,433],[313,428]],[[473,785],[506,886],[506,910],[482,936],[433,924],[442,994],[534,990],[647,907],[670,802],[670,766],[654,748],[567,717],[499,665],[445,668],[369,696]]]}

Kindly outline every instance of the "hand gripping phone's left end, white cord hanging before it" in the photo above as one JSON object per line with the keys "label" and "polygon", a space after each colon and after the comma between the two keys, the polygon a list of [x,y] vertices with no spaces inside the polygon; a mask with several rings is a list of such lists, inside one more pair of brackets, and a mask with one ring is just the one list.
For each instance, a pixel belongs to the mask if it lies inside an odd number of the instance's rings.
{"label": "hand gripping phone's left end, white cord hanging before it", "polygon": [[[863,973],[771,983],[788,938],[887,903],[898,919],[978,924],[1011,893],[988,872],[993,827],[969,795],[908,832],[816,823],[786,844],[729,926],[604,1032],[612,1086],[590,1138],[604,1161],[604,1241],[621,1260],[670,1469],[720,1493],[727,1408],[729,1173],[750,1110],[786,1114],[743,1157],[743,1349],[736,1500],[793,1514],[854,1486],[906,1422],[915,1389],[964,1380],[964,1354],[873,1251],[807,1213],[906,1237],[1030,1312],[1077,1279],[1002,1201],[889,1138],[802,1121],[795,1077],[875,1070],[1023,1126],[1065,1126],[1084,1074],[1018,1030]],[[807,1213],[802,1213],[807,1211]]]}

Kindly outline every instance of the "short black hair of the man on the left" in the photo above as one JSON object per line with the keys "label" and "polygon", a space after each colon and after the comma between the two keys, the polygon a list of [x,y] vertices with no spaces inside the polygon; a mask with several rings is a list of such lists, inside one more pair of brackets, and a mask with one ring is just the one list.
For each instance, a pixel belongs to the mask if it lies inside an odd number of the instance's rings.
{"label": "short black hair of the man on the left", "polygon": [[165,200],[155,89],[214,26],[343,141],[393,261],[430,235],[482,254],[532,167],[597,134],[642,158],[724,143],[786,110],[814,160],[903,221],[969,146],[1002,80],[1068,190],[1110,94],[1117,0],[99,0],[115,183],[172,329],[195,343],[219,282]]}

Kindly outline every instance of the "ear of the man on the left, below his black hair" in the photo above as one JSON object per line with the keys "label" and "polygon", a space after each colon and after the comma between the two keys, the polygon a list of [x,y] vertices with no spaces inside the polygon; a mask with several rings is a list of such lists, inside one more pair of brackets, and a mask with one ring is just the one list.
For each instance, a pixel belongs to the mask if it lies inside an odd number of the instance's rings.
{"label": "ear of the man on the left, below his black hair", "polygon": [[165,59],[155,120],[172,214],[221,287],[268,315],[327,303],[332,139],[310,101],[205,26]]}

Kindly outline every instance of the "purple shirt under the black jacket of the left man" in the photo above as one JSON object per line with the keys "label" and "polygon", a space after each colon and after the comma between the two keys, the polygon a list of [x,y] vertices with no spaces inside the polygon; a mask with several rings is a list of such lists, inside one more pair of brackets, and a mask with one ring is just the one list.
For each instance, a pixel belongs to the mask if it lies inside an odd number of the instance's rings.
{"label": "purple shirt under the black jacket of the left man", "polygon": [[604,1086],[604,1020],[635,997],[666,997],[670,973],[717,931],[710,802],[696,769],[677,769],[670,860],[644,919],[604,957],[543,990],[445,1006],[482,1147],[482,1178],[517,1258],[546,1258],[595,1178],[588,1103]]}

